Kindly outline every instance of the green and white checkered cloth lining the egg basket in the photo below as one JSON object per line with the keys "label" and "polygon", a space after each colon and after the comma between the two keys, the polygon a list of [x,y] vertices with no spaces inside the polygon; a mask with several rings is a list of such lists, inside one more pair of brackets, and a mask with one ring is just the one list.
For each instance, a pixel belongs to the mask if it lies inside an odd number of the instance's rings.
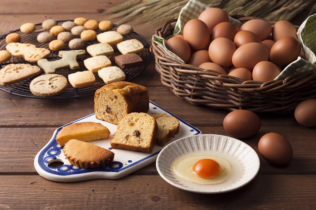
{"label": "green and white checkered cloth lining the egg basket", "polygon": [[[209,8],[204,3],[197,0],[190,0],[180,11],[178,21],[174,28],[173,35],[182,34],[184,25],[191,19],[197,18],[199,14],[205,9]],[[229,17],[230,22],[242,25],[238,20]],[[297,37],[302,44],[303,51],[305,53],[306,60],[298,57],[296,61],[289,64],[275,79],[285,79],[286,77],[293,75],[295,73],[303,72],[306,70],[311,70],[316,66],[316,14],[307,18],[304,23],[299,27],[297,32]],[[168,37],[167,37],[168,38]],[[165,39],[153,35],[153,41],[161,46],[166,53],[179,61],[182,61],[173,52],[169,51],[165,47]],[[183,62],[183,61],[182,61]]]}

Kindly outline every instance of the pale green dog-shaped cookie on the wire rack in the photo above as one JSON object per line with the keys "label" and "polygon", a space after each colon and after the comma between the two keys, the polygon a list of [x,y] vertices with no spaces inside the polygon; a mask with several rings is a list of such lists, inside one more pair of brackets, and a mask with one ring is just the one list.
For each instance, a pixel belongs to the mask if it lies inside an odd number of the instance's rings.
{"label": "pale green dog-shaped cookie on the wire rack", "polygon": [[72,70],[79,69],[77,62],[78,58],[83,57],[85,50],[62,50],[59,51],[58,56],[62,59],[56,61],[48,61],[47,59],[40,59],[38,65],[42,68],[46,74],[55,73],[56,70],[70,68]]}

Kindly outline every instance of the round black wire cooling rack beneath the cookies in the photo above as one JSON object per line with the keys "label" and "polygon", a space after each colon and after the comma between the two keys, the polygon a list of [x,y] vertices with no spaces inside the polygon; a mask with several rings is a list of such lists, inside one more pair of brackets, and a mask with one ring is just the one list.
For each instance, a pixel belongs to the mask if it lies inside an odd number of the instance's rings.
{"label": "round black wire cooling rack beneath the cookies", "polygon": [[[57,21],[57,23],[58,23],[58,25],[62,25],[62,23],[66,22],[66,21],[69,21],[69,20],[60,20],[60,21]],[[118,25],[114,24],[112,31],[116,31],[117,28],[118,28]],[[37,41],[37,36],[41,32],[44,32],[44,31],[45,30],[43,30],[41,27],[41,23],[39,23],[39,24],[36,24],[36,31],[35,32],[25,34],[25,33],[22,33],[20,30],[15,30],[15,31],[10,31],[10,33],[19,34],[21,36],[20,42],[22,42],[22,43],[35,44],[37,47],[49,49],[48,43],[40,43]],[[97,30],[96,33],[100,34],[100,33],[103,33],[103,31]],[[0,50],[5,50],[5,46],[7,44],[5,42],[5,36],[8,34],[0,35]],[[79,37],[74,36],[74,38],[79,38]],[[136,67],[136,68],[123,69],[123,71],[125,73],[125,81],[131,81],[132,79],[137,77],[143,70],[145,70],[146,67],[148,66],[148,63],[149,63],[150,57],[151,57],[150,45],[147,43],[147,41],[141,35],[133,32],[131,35],[123,36],[123,40],[133,39],[133,38],[138,39],[144,45],[144,51],[142,53],[138,54],[143,59],[143,65],[140,67]],[[96,43],[99,43],[99,42],[97,40],[85,41],[83,49],[85,50],[87,46],[92,45],[92,44],[96,44]],[[119,55],[120,53],[119,53],[116,45],[112,45],[112,47],[114,49],[114,55],[109,57],[109,59],[111,60],[112,65],[116,66],[114,58],[115,58],[115,56]],[[68,43],[65,44],[64,50],[70,50],[70,48],[68,47]],[[89,57],[91,57],[91,56],[87,52],[85,52],[85,56],[82,58],[79,58],[77,60],[77,62],[79,63],[79,67],[80,67],[77,70],[64,69],[64,70],[57,70],[56,73],[64,75],[66,78],[68,78],[68,74],[70,74],[70,73],[86,70],[86,68],[84,67],[83,61]],[[54,61],[54,60],[59,60],[61,58],[58,57],[58,52],[51,51],[50,55],[46,59],[48,61]],[[31,64],[31,65],[37,66],[37,63],[30,63],[28,61],[25,61],[23,58],[16,58],[16,57],[12,56],[10,61],[5,62],[5,63],[1,63],[0,67],[2,69],[9,64]],[[41,73],[37,76],[40,76],[42,74],[45,74],[45,72],[43,70],[41,70]],[[52,96],[52,97],[39,97],[39,96],[33,95],[33,93],[30,91],[30,83],[35,77],[25,79],[21,82],[17,82],[17,83],[12,84],[12,85],[6,85],[6,86],[0,85],[0,90],[5,91],[7,93],[10,93],[12,95],[18,95],[18,96],[29,97],[29,98],[37,98],[37,99],[81,98],[81,97],[94,95],[94,93],[97,89],[99,89],[105,85],[104,81],[98,76],[98,73],[94,73],[94,76],[96,79],[94,85],[89,86],[89,87],[85,87],[85,88],[74,88],[68,82],[68,86],[67,86],[67,89],[65,91],[63,91],[59,95]]]}

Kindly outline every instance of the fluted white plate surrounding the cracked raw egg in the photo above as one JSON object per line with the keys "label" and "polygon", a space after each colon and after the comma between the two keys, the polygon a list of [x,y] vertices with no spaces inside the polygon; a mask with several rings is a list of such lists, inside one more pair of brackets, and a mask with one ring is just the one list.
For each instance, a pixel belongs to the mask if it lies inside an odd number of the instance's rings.
{"label": "fluted white plate surrounding the cracked raw egg", "polygon": [[[173,172],[173,162],[184,156],[210,155],[222,158],[231,165],[231,174],[220,184],[202,185],[186,181]],[[175,140],[164,147],[158,154],[156,166],[159,175],[169,184],[182,190],[218,194],[243,187],[253,180],[259,172],[258,154],[248,144],[227,136],[201,134]],[[232,176],[233,177],[233,176]]]}

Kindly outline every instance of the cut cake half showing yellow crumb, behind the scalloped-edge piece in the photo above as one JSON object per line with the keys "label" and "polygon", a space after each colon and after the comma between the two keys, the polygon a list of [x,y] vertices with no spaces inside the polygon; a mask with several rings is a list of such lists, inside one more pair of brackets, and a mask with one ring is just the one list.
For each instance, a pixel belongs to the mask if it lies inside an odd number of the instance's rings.
{"label": "cut cake half showing yellow crumb, behind the scalloped-edge piece", "polygon": [[62,128],[56,136],[56,141],[60,146],[64,146],[71,139],[87,142],[101,139],[106,140],[109,139],[109,136],[109,129],[101,123],[79,122]]}

